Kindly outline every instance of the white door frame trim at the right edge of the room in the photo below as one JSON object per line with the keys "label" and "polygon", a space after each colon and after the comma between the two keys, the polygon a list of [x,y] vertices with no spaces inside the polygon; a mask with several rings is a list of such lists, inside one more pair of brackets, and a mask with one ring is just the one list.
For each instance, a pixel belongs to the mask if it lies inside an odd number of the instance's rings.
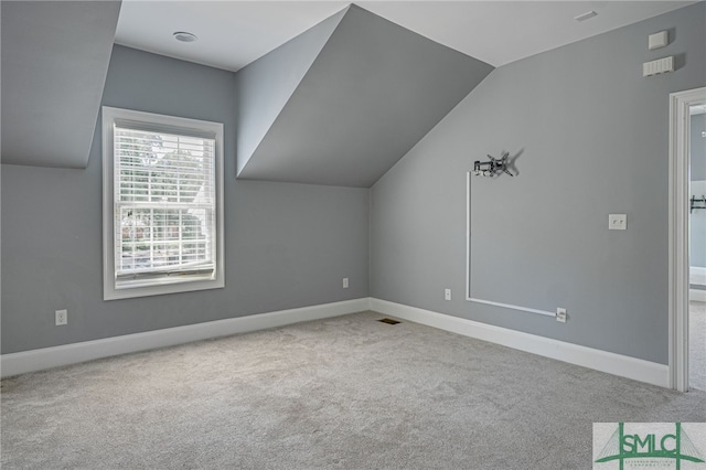
{"label": "white door frame trim at the right edge of the room", "polygon": [[706,87],[670,95],[670,386],[688,391],[689,107],[706,104]]}

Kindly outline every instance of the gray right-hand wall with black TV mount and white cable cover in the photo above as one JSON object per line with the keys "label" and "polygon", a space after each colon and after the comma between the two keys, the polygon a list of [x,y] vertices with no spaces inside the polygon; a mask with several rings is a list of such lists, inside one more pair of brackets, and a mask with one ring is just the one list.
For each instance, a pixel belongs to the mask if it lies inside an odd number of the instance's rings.
{"label": "gray right-hand wall with black TV mount and white cable cover", "polygon": [[[668,94],[706,84],[705,9],[493,71],[372,188],[371,296],[666,363]],[[642,77],[672,54],[676,72]],[[464,300],[466,174],[503,150],[520,174],[471,184],[472,295],[565,307],[565,324]]]}

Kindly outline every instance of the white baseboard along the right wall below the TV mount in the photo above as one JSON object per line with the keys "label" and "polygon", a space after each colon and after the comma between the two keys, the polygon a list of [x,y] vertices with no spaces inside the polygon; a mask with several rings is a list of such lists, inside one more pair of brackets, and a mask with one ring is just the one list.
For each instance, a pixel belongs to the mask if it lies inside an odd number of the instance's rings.
{"label": "white baseboard along the right wall below the TV mount", "polygon": [[370,308],[383,314],[414,321],[440,330],[477,338],[609,374],[620,375],[662,387],[670,387],[670,370],[668,366],[664,364],[437,313],[416,307],[408,307],[387,300],[372,298]]}

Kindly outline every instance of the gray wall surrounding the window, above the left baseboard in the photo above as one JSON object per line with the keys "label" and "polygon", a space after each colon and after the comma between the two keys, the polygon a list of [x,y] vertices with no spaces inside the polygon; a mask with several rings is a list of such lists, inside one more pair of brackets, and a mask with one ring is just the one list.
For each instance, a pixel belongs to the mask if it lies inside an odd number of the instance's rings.
{"label": "gray wall surrounding the window, above the left baseboard", "polygon": [[85,170],[2,165],[2,353],[368,295],[367,190],[236,181],[234,90],[229,72],[116,46],[103,98],[225,125],[225,289],[103,301],[98,122]]}

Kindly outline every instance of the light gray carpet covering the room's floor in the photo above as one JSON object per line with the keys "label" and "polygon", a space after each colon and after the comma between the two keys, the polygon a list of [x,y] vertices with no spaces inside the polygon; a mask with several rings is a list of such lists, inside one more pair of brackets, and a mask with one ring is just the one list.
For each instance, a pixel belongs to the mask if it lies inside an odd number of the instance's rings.
{"label": "light gray carpet covering the room's floor", "polygon": [[363,312],[2,381],[3,469],[588,469],[660,387]]}

